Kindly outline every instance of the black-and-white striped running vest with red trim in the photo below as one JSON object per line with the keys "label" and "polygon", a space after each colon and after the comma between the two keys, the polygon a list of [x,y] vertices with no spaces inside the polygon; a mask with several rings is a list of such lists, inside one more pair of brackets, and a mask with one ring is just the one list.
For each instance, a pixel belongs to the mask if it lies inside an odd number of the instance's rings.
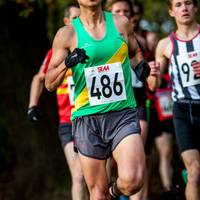
{"label": "black-and-white striped running vest with red trim", "polygon": [[200,29],[191,40],[181,40],[175,33],[169,38],[172,54],[169,62],[169,74],[172,80],[172,99],[200,100],[200,78],[197,78],[191,66],[200,61]]}

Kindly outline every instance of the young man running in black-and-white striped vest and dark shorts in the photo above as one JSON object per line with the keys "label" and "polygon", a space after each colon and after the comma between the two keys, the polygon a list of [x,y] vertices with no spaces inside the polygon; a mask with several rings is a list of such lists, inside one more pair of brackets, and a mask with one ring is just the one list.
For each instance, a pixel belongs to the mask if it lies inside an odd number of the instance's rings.
{"label": "young man running in black-and-white striped vest and dark shorts", "polygon": [[[200,26],[197,0],[168,0],[177,30],[159,41],[156,61],[172,81],[173,121],[188,172],[186,199],[200,199]],[[169,63],[167,63],[169,61]]]}

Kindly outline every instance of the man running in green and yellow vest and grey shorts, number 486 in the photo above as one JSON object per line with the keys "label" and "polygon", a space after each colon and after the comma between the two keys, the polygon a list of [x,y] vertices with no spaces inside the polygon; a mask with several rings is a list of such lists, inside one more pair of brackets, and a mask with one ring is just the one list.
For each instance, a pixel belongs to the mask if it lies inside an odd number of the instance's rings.
{"label": "man running in green and yellow vest and grey shorts, number 486", "polygon": [[[45,85],[49,91],[56,89],[66,70],[72,69],[75,147],[91,200],[109,200],[134,194],[143,184],[144,148],[129,60],[135,56],[140,62],[143,56],[126,17],[103,12],[101,0],[78,2],[80,17],[61,28],[54,38]],[[139,69],[146,71],[147,64],[143,64]],[[159,66],[151,63],[150,69],[148,79],[153,88]],[[111,154],[119,176],[109,193],[105,165]]]}

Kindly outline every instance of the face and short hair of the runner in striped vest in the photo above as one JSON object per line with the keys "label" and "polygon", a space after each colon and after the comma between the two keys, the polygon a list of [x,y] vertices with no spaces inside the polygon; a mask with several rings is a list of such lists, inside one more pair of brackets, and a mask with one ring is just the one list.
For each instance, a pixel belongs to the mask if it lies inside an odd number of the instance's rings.
{"label": "face and short hair of the runner in striped vest", "polygon": [[174,17],[178,24],[190,24],[195,21],[197,7],[192,0],[173,0],[169,10],[171,17]]}

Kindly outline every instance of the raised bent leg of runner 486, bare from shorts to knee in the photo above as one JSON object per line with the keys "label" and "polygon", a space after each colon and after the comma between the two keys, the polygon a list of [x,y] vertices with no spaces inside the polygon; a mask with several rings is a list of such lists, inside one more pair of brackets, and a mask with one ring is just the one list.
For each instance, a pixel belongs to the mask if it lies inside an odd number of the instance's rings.
{"label": "raised bent leg of runner 486, bare from shorts to knee", "polygon": [[145,155],[142,138],[139,134],[125,137],[114,149],[113,157],[117,162],[118,178],[115,193],[130,196],[143,186]]}

